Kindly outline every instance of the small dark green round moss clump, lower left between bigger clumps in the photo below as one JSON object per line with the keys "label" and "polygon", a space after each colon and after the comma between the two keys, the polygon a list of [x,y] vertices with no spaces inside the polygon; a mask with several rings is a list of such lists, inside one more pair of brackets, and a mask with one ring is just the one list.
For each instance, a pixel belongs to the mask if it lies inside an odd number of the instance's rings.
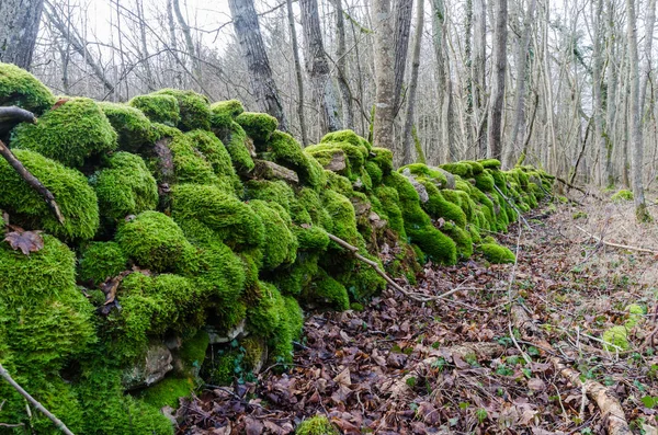
{"label": "small dark green round moss clump, lower left between bigger clumps", "polygon": [[99,285],[126,270],[128,257],[116,242],[91,242],[82,250],[78,278]]}

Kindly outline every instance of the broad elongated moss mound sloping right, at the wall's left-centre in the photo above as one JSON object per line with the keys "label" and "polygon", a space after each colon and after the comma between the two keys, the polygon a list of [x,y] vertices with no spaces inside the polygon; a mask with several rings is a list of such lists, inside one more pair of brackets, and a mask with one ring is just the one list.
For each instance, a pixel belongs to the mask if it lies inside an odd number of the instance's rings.
{"label": "broad elongated moss mound sloping right, at the wall's left-centre", "polygon": [[[248,204],[216,186],[175,186],[172,192],[171,216],[196,243],[207,241],[209,234],[239,251],[248,247],[260,247],[264,240],[261,218]],[[204,227],[206,231],[203,231]],[[208,229],[214,233],[208,233]]]}

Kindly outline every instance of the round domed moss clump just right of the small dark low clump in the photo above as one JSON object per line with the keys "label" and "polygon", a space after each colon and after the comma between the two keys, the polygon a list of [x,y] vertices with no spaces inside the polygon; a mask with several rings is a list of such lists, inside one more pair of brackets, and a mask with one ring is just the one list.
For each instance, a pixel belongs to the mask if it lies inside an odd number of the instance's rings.
{"label": "round domed moss clump just right of the small dark low clump", "polygon": [[116,241],[139,266],[154,272],[173,271],[191,248],[173,219],[158,211],[144,211],[123,224]]}

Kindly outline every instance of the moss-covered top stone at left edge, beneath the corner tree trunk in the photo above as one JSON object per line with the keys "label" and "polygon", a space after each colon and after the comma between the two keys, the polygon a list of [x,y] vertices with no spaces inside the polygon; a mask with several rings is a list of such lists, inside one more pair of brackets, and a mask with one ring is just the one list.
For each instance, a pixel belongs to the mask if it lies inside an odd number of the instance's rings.
{"label": "moss-covered top stone at left edge, beneath the corner tree trunk", "polygon": [[0,62],[0,106],[16,105],[41,115],[55,101],[50,90],[30,72],[12,64]]}

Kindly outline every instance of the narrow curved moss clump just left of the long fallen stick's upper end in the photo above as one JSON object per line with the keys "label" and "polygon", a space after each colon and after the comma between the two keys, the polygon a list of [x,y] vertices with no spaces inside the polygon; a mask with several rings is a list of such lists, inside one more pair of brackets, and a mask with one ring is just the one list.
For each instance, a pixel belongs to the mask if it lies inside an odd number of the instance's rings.
{"label": "narrow curved moss clump just left of the long fallen stick's upper end", "polygon": [[268,204],[260,199],[249,202],[249,206],[261,218],[265,229],[261,249],[264,254],[263,267],[266,270],[291,264],[297,254],[297,238],[290,230],[285,218],[281,216],[285,210],[283,208],[276,210],[274,205],[276,204]]}

